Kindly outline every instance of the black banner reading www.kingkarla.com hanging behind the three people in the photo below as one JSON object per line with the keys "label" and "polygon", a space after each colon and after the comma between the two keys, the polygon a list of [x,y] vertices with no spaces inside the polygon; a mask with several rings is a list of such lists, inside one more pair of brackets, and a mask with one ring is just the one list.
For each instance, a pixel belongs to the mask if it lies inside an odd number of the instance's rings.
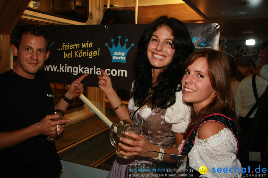
{"label": "black banner reading www.kingkarla.com hanging behind the three people", "polygon": [[[219,24],[185,24],[196,50],[219,48]],[[100,69],[111,77],[113,88],[130,90],[134,80],[132,60],[148,24],[46,25],[52,42],[41,69],[53,83],[70,84],[84,73],[85,86],[98,87]],[[215,27],[216,26],[216,27]]]}

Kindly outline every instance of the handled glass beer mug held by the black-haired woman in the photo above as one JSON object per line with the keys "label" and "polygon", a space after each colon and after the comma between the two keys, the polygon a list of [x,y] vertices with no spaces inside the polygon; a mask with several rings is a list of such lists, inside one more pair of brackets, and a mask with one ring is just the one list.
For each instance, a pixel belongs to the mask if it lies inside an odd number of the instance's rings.
{"label": "handled glass beer mug held by the black-haired woman", "polygon": [[[114,127],[117,127],[117,132],[116,132],[116,142],[113,139],[113,129]],[[126,138],[130,140],[134,140],[132,137],[125,135],[125,132],[132,132],[135,134],[140,134],[141,133],[141,124],[137,121],[134,120],[120,120],[118,123],[113,123],[113,125],[110,128],[110,141],[111,144],[116,148],[116,155],[121,157],[121,158],[133,158],[133,156],[124,156],[120,153],[120,151],[127,152],[126,150],[122,149],[121,147],[118,146],[119,143],[124,144],[128,147],[133,147],[132,145],[126,144],[124,142],[121,142],[119,139]]]}

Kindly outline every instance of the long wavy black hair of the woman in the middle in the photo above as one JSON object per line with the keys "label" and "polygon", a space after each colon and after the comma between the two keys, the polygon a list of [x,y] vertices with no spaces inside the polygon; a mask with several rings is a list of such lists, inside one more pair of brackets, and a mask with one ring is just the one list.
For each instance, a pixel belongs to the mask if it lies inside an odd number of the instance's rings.
{"label": "long wavy black hair of the woman in the middle", "polygon": [[130,94],[136,106],[140,106],[146,100],[148,89],[152,86],[152,65],[147,58],[147,46],[152,34],[162,26],[171,29],[174,36],[172,47],[175,53],[171,63],[158,75],[157,86],[150,101],[152,108],[168,108],[176,102],[175,93],[181,90],[179,84],[181,84],[183,61],[194,51],[189,32],[182,22],[167,16],[161,16],[153,21],[138,42],[137,56],[133,62],[135,82]]}

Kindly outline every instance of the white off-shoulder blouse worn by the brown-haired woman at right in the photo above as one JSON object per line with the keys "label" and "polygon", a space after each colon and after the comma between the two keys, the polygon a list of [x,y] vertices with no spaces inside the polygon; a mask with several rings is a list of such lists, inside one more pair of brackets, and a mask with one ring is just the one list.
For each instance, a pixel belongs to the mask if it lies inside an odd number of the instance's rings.
{"label": "white off-shoulder blouse worn by the brown-haired woman at right", "polygon": [[[179,146],[179,152],[183,142]],[[196,171],[199,171],[201,166],[206,166],[208,171],[205,175],[208,178],[241,177],[241,173],[234,173],[234,169],[231,169],[233,173],[229,171],[230,168],[234,168],[236,165],[241,172],[241,163],[236,158],[237,146],[236,138],[228,128],[224,128],[219,131],[219,134],[204,140],[199,139],[197,135],[195,144],[188,153],[189,166]],[[214,172],[216,171],[215,173],[213,173],[213,168]],[[218,173],[218,168],[227,168],[228,171],[227,173]]]}

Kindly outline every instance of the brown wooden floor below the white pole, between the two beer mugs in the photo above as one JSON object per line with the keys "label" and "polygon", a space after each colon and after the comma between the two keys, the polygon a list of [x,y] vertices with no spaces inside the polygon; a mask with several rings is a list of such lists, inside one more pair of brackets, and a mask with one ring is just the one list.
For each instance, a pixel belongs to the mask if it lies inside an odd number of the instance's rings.
{"label": "brown wooden floor below the white pole, between the two beer mugs", "polygon": [[[117,122],[118,118],[109,113],[112,112],[107,110],[106,117]],[[109,171],[116,158],[109,131],[110,128],[96,115],[67,125],[63,139],[55,142],[60,159]]]}

